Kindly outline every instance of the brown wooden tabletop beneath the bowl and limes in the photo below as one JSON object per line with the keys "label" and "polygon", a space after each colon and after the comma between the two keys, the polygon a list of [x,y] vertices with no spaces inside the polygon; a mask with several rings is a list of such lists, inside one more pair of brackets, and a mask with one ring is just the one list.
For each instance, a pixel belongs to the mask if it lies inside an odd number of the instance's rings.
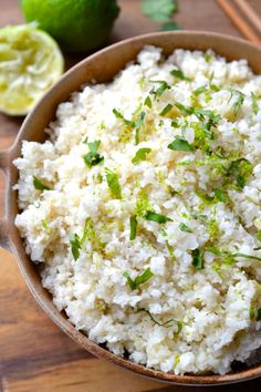
{"label": "brown wooden tabletop beneath the bowl and limes", "polygon": [[[160,1],[160,0],[159,0]],[[17,0],[0,1],[0,27],[22,21]],[[140,12],[139,0],[119,0],[122,7],[112,41],[158,30],[158,24]],[[261,13],[261,1],[249,0]],[[240,35],[215,0],[179,0],[178,23],[185,29],[208,30]],[[243,54],[243,53],[242,53]],[[79,59],[67,59],[73,64]],[[0,151],[8,148],[23,118],[0,115]],[[0,173],[0,198],[3,193]],[[1,213],[1,210],[0,210]],[[220,386],[215,391],[252,391],[261,379]],[[97,360],[67,338],[44,314],[30,295],[15,260],[0,249],[0,391],[1,392],[142,392],[192,391],[168,386],[124,372]],[[209,391],[209,388],[197,391]]]}

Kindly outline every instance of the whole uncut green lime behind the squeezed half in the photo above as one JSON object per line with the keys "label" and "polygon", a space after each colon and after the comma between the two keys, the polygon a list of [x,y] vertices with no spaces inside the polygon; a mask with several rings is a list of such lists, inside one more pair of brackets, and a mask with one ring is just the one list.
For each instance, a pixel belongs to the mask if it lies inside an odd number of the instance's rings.
{"label": "whole uncut green lime behind the squeezed half", "polygon": [[20,0],[28,22],[36,21],[66,51],[90,52],[108,40],[119,13],[116,0]]}

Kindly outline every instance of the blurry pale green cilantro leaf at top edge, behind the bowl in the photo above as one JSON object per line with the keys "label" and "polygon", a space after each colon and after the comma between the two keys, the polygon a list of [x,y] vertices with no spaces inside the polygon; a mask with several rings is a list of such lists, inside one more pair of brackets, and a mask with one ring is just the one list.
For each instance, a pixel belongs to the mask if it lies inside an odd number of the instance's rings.
{"label": "blurry pale green cilantro leaf at top edge, behind the bowl", "polygon": [[155,22],[168,22],[178,10],[177,0],[143,0],[142,11]]}

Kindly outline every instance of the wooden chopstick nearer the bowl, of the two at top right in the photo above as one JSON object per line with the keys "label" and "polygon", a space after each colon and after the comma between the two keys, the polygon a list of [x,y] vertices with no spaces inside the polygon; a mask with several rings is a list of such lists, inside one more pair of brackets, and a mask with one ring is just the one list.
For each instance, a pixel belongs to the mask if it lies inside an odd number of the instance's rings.
{"label": "wooden chopstick nearer the bowl, of the two at top right", "polygon": [[248,38],[254,43],[261,44],[261,38],[255,33],[252,27],[248,24],[247,21],[244,21],[244,19],[240,16],[237,9],[232,6],[231,0],[217,0],[217,2],[246,38]]}

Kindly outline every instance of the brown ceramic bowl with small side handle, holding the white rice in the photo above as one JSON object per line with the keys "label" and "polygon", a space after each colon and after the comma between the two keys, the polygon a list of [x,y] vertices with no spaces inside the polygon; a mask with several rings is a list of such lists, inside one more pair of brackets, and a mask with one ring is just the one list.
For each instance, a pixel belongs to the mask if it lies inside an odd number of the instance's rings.
{"label": "brown ceramic bowl with small side handle, holding the white rice", "polygon": [[229,61],[242,58],[247,59],[254,73],[261,73],[261,47],[241,39],[209,32],[150,33],[122,41],[86,58],[66,72],[44,95],[32,113],[25,118],[13,146],[0,154],[0,168],[4,172],[6,184],[8,184],[6,189],[6,215],[0,220],[0,245],[14,254],[29,289],[45,313],[65,333],[92,354],[106,359],[137,374],[173,384],[213,385],[254,379],[261,375],[261,364],[249,369],[239,369],[225,375],[176,375],[133,363],[127,358],[119,358],[104,347],[94,343],[81,331],[77,331],[66,319],[65,314],[59,312],[54,307],[51,295],[43,289],[38,268],[25,254],[23,241],[13,224],[19,210],[17,193],[12,190],[12,186],[18,179],[18,171],[12,165],[12,161],[20,156],[22,141],[43,142],[46,138],[43,131],[54,118],[55,109],[59,103],[69,100],[72,92],[79,91],[81,85],[90,83],[93,80],[97,83],[111,81],[126,63],[135,60],[137,53],[145,44],[161,47],[166,55],[170,54],[177,48],[202,51],[211,48]]}

